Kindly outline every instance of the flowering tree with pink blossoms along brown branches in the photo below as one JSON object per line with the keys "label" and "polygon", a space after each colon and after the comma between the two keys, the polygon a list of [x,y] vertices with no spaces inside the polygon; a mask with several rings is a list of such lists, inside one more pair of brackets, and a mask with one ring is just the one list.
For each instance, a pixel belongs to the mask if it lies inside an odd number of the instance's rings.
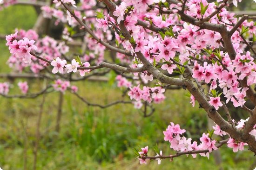
{"label": "flowering tree with pink blossoms along brown branches", "polygon": [[[55,80],[37,94],[28,94],[27,82],[18,84],[22,95],[34,97],[51,92],[52,89],[72,91],[88,105],[108,107],[117,103],[133,103],[140,109],[143,104],[152,108],[152,103],[165,99],[166,88],[179,86],[190,93],[192,107],[199,103],[209,118],[216,123],[213,130],[203,133],[201,143],[186,138],[186,130],[170,123],[163,132],[164,140],[175,155],[164,155],[155,147],[156,156],[148,156],[148,146],[135,150],[141,164],[162,159],[209,153],[227,144],[234,152],[248,145],[256,154],[256,26],[254,16],[235,18],[229,6],[237,6],[241,0],[53,0],[42,6],[43,16],[55,18],[55,24],[67,26],[62,32],[62,41],[40,37],[33,30],[17,30],[6,37],[11,57],[8,64],[20,72],[27,68],[34,74],[44,74]],[[5,0],[3,6],[17,3]],[[36,2],[34,2],[36,3]],[[82,37],[82,52],[71,54],[67,42],[77,35]],[[107,62],[106,50],[111,52]],[[78,55],[77,55],[78,54]],[[115,55],[115,56],[114,56]],[[75,56],[75,57],[74,57]],[[107,56],[107,55],[106,55]],[[104,69],[105,68],[105,69]],[[117,85],[127,89],[131,101],[116,101],[107,106],[92,104],[83,99],[70,82],[82,80],[97,70],[115,70]],[[79,72],[79,76],[76,72]],[[86,76],[87,75],[87,76]],[[209,91],[205,91],[209,84]],[[219,88],[220,90],[216,90]],[[0,94],[8,95],[9,84],[0,83]],[[221,98],[222,96],[222,98]],[[246,120],[236,122],[229,114],[226,104],[242,107],[249,113]],[[226,117],[218,112],[222,107]],[[145,109],[146,110],[146,109]],[[152,111],[154,109],[152,108]],[[147,114],[145,114],[147,116]],[[213,139],[213,133],[226,136],[224,140]]]}

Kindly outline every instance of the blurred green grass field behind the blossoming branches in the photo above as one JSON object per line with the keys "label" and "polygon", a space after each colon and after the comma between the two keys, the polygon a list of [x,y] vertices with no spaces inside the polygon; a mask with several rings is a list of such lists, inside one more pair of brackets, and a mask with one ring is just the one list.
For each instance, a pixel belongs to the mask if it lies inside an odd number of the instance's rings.
{"label": "blurred green grass field behind the blossoming branches", "polygon": [[[0,33],[10,34],[16,27],[32,28],[36,14],[32,7],[13,6],[0,11]],[[10,71],[5,64],[9,52],[0,41],[0,73]],[[0,80],[4,82],[7,80]],[[20,81],[14,80],[14,85]],[[29,80],[30,92],[43,86],[39,80]],[[76,82],[79,93],[94,103],[106,104],[121,98],[121,90],[108,82]],[[19,93],[15,87],[11,94]],[[218,170],[213,155],[193,159],[177,157],[140,165],[134,148],[157,143],[164,154],[175,152],[163,140],[162,131],[169,122],[179,123],[189,130],[188,137],[198,139],[207,130],[207,115],[198,106],[191,107],[185,90],[169,90],[167,100],[155,105],[155,113],[144,118],[131,105],[120,104],[107,109],[88,107],[73,94],[64,94],[60,133],[55,132],[59,93],[46,95],[43,107],[41,138],[38,148],[37,170]],[[126,97],[126,99],[128,99]],[[5,99],[0,97],[0,167],[3,170],[32,170],[36,124],[42,96],[36,99]],[[200,132],[200,133],[198,133]],[[249,170],[255,157],[252,152],[233,153],[223,146],[224,170]],[[150,151],[150,155],[155,155]],[[256,166],[256,165],[255,165]]]}

